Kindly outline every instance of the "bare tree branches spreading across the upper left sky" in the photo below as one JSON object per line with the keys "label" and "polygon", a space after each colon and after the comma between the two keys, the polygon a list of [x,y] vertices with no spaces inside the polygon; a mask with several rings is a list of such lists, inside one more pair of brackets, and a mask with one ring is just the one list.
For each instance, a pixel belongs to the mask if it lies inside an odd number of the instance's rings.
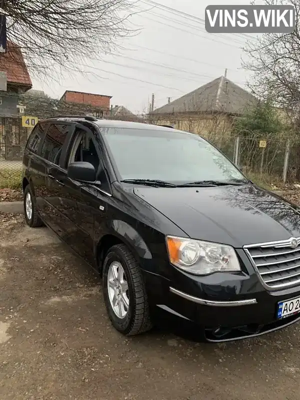
{"label": "bare tree branches spreading across the upper left sky", "polygon": [[[121,47],[130,0],[1,0],[7,38],[20,46],[33,76],[84,72],[92,59]],[[53,73],[54,72],[54,73]]]}

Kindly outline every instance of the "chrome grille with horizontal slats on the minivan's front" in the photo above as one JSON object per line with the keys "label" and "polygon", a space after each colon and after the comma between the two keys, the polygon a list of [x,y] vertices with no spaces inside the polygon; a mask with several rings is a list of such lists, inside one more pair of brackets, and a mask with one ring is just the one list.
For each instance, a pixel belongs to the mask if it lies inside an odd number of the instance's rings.
{"label": "chrome grille with horizontal slats on the minivan's front", "polygon": [[300,238],[251,244],[244,248],[268,288],[300,285]]}

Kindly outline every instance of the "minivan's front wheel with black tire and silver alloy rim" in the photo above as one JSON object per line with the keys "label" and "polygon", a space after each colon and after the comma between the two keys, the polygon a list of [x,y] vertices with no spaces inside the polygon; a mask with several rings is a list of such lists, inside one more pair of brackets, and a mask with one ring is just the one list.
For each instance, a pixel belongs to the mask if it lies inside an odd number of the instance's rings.
{"label": "minivan's front wheel with black tire and silver alloy rim", "polygon": [[[108,279],[112,282],[112,277],[115,277],[117,272],[119,272],[118,280],[121,283],[119,288],[121,286],[123,289],[123,295],[119,298],[128,300],[127,311],[124,300],[119,302],[120,307],[115,306],[116,311],[112,306],[111,297],[116,295],[117,289],[113,289],[111,285],[108,287]],[[138,262],[124,244],[116,244],[108,250],[103,263],[102,283],[106,310],[116,330],[126,336],[133,336],[152,328],[142,274]],[[124,315],[121,315],[120,308],[124,311]]]}

